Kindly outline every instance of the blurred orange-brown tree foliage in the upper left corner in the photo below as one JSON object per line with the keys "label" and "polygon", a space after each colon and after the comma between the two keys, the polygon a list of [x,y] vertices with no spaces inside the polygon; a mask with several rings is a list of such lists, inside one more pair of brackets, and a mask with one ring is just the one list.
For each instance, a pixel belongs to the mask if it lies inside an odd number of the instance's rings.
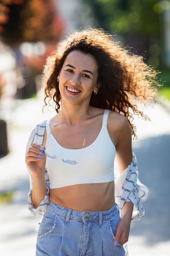
{"label": "blurred orange-brown tree foliage in the upper left corner", "polygon": [[62,21],[54,0],[2,0],[0,12],[1,38],[9,45],[60,38]]}

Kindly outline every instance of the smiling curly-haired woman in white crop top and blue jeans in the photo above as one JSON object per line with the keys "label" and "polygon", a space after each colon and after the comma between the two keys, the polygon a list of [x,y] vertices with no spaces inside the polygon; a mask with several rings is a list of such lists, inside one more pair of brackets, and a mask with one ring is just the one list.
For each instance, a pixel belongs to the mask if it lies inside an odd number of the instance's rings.
{"label": "smiling curly-haired woman in white crop top and blue jeans", "polygon": [[130,222],[148,197],[131,119],[147,118],[137,101],[155,100],[155,77],[101,29],[74,32],[47,59],[44,101],[57,113],[33,129],[26,151],[29,210],[43,216],[36,256],[127,255]]}

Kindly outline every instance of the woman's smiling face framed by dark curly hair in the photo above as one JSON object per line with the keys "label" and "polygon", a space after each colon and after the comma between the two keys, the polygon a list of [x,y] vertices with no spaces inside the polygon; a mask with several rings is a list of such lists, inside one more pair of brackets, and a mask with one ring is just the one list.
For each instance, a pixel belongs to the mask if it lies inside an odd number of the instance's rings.
{"label": "woman's smiling face framed by dark curly hair", "polygon": [[66,57],[60,74],[59,90],[63,101],[90,102],[92,92],[97,92],[98,66],[91,54],[74,50]]}

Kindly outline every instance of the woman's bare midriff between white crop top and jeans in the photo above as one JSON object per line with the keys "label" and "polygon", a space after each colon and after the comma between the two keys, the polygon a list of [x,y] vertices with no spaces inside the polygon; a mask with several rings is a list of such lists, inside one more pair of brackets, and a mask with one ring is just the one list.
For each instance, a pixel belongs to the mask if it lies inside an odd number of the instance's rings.
{"label": "woman's bare midriff between white crop top and jeans", "polygon": [[50,189],[50,200],[75,211],[108,211],[115,204],[115,183],[78,184]]}

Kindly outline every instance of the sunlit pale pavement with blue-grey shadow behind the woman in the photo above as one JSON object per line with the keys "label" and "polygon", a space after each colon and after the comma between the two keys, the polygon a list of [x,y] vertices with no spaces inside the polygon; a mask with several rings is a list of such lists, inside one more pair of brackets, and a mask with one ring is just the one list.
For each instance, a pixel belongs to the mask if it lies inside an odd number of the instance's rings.
{"label": "sunlit pale pavement with blue-grey shadow behind the woman", "polygon": [[[11,204],[0,204],[0,256],[34,256],[35,226],[40,217],[26,208],[29,181],[24,163],[26,142],[33,126],[48,119],[42,114],[43,98],[13,102],[7,110],[10,153],[0,159],[0,191],[13,190]],[[133,142],[139,179],[150,188],[144,202],[146,215],[132,222],[130,256],[170,255],[170,112],[155,105],[147,109],[152,122],[135,119],[138,140]]]}

